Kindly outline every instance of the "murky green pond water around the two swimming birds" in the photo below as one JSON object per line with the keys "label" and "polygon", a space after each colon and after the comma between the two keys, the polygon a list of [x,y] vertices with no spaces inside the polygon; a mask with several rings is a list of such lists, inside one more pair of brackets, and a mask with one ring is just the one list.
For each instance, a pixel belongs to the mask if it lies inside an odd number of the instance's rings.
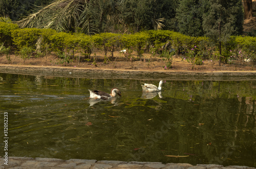
{"label": "murky green pond water around the two swimming birds", "polygon": [[0,156],[8,112],[9,156],[256,167],[256,80],[141,82],[0,73]]}

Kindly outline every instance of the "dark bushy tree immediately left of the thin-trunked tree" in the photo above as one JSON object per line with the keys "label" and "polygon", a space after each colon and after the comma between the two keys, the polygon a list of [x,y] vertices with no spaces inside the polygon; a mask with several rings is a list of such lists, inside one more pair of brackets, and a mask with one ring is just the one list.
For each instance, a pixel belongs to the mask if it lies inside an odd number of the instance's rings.
{"label": "dark bushy tree immediately left of the thin-trunked tree", "polygon": [[179,32],[193,37],[203,36],[203,14],[209,6],[209,1],[205,0],[181,0],[176,13]]}

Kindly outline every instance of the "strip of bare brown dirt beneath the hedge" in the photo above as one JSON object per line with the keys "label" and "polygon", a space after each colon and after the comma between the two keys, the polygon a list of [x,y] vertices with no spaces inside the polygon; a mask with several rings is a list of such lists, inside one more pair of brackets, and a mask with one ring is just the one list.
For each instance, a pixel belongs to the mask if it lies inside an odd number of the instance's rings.
{"label": "strip of bare brown dirt beneath the hedge", "polygon": [[140,61],[137,58],[136,53],[133,55],[133,60],[128,60],[123,53],[118,51],[114,52],[114,59],[110,59],[110,53],[108,53],[108,60],[104,62],[104,54],[96,53],[96,64],[93,64],[94,55],[91,55],[91,61],[87,61],[84,58],[80,58],[78,63],[78,57],[75,57],[73,62],[69,64],[61,63],[60,59],[55,54],[48,55],[47,57],[37,58],[36,55],[32,55],[29,60],[24,60],[18,55],[10,55],[11,62],[9,63],[6,55],[0,56],[0,64],[5,65],[34,65],[34,66],[65,66],[76,68],[90,68],[90,69],[116,69],[116,70],[154,70],[154,71],[251,71],[256,70],[256,65],[253,63],[237,63],[237,64],[224,64],[219,66],[218,61],[205,60],[203,65],[193,65],[186,60],[182,60],[184,56],[176,55],[173,57],[172,68],[164,69],[165,62],[158,56],[152,57],[149,53],[143,54],[143,59]]}

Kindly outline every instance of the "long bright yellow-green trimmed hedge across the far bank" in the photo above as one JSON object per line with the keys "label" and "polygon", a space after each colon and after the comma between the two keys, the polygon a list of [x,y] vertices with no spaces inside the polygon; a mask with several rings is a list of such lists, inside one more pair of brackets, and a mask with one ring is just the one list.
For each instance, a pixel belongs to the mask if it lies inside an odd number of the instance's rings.
{"label": "long bright yellow-green trimmed hedge across the far bank", "polygon": [[[135,50],[138,58],[142,59],[144,50],[153,48],[156,53],[162,50],[175,50],[176,54],[187,53],[191,49],[196,49],[194,57],[210,57],[218,51],[218,46],[212,46],[209,38],[189,37],[173,31],[144,31],[135,34],[114,34],[101,33],[92,36],[84,34],[56,32],[51,29],[25,28],[18,29],[16,24],[0,22],[0,41],[3,43],[16,45],[17,50],[23,47],[38,49],[47,53],[55,51],[57,53],[81,52],[90,57],[94,49],[102,48],[105,56],[108,51],[114,48],[126,49],[126,57]],[[256,38],[248,36],[230,37],[229,41],[223,45],[223,58],[227,59],[233,54],[239,55],[240,59],[251,58],[256,60]],[[241,54],[243,53],[243,55]]]}

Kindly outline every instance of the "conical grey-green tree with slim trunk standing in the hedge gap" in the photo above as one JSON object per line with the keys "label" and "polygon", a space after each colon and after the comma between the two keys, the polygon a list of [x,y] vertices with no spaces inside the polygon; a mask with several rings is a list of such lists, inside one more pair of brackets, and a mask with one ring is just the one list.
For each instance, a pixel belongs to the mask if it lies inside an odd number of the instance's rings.
{"label": "conical grey-green tree with slim trunk standing in the hedge gap", "polygon": [[203,16],[205,35],[219,47],[219,66],[222,43],[228,41],[231,35],[237,35],[243,30],[241,7],[240,0],[210,0],[209,12]]}

